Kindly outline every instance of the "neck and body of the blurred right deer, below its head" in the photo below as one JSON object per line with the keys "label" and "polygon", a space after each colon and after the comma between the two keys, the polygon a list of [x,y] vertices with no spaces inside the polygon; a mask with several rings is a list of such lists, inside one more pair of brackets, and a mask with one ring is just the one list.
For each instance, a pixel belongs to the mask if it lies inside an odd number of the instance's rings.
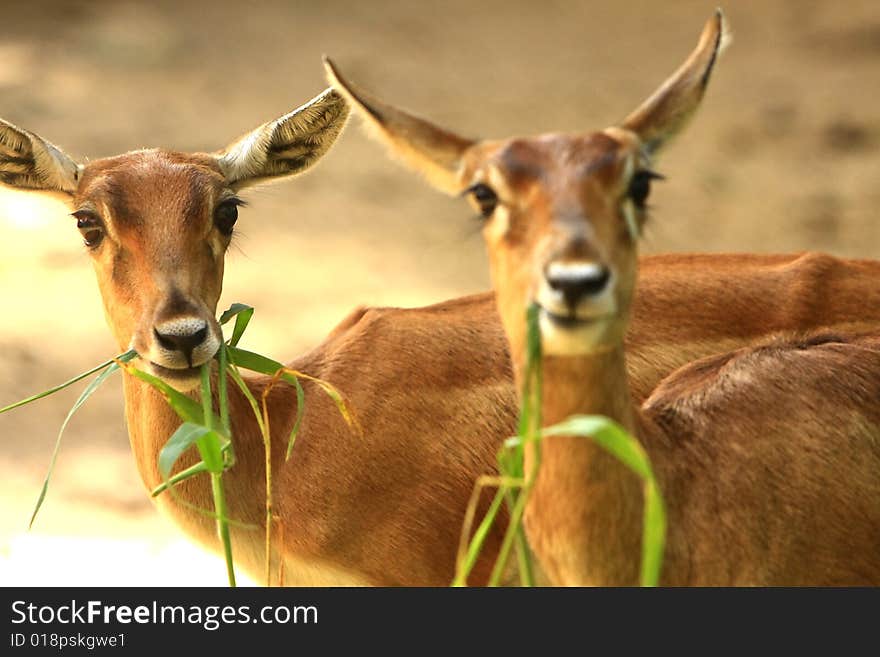
{"label": "neck and body of the blurred right deer, below its head", "polygon": [[[544,419],[601,414],[638,435],[668,509],[661,583],[876,585],[878,347],[870,335],[779,338],[685,365],[642,405],[585,379],[625,381],[621,351],[548,357]],[[527,528],[547,577],[638,583],[638,478],[579,437],[545,440],[541,459]]]}

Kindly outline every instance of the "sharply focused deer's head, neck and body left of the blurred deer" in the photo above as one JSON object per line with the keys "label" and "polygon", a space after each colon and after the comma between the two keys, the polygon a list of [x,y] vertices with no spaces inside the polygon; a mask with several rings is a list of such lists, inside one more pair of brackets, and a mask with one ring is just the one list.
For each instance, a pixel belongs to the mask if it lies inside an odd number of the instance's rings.
{"label": "sharply focused deer's head, neck and body left of the blurred deer", "polygon": [[[135,364],[180,390],[222,338],[215,319],[224,256],[241,190],[299,174],[333,144],[348,106],[326,91],[216,153],[141,150],[80,164],[41,137],[0,121],[0,181],[69,195],[106,317]],[[415,310],[359,309],[291,366],[336,384],[365,427],[354,435],[323,393],[267,386],[274,477],[273,582],[432,584],[452,580],[474,479],[515,421],[503,333],[487,295]],[[438,324],[442,324],[438,327]],[[463,344],[462,335],[472,340]],[[216,372],[215,372],[216,376]],[[157,456],[180,420],[150,386],[124,377],[126,419],[144,484],[162,483]],[[246,399],[230,385],[236,464],[225,482],[236,562],[263,580],[265,452]],[[192,464],[182,459],[180,467]],[[195,478],[158,498],[188,534],[219,548],[210,486]],[[490,544],[497,548],[497,536]],[[490,547],[490,553],[494,548]],[[491,555],[475,573],[488,576]],[[218,571],[219,574],[219,571]]]}

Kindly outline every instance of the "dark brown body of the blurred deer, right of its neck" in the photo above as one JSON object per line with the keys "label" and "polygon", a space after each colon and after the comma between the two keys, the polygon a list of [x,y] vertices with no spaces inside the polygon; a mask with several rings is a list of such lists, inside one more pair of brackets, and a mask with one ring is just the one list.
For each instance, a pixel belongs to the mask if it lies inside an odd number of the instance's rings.
{"label": "dark brown body of the blurred deer, right of its neck", "polygon": [[639,435],[670,509],[664,583],[880,583],[876,336],[770,341],[656,388]]}

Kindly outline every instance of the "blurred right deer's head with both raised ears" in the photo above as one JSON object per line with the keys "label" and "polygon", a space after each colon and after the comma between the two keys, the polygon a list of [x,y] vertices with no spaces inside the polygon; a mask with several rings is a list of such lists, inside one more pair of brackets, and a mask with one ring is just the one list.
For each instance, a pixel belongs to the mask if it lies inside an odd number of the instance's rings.
{"label": "blurred right deer's head with both raised ears", "polygon": [[493,141],[461,137],[393,107],[325,65],[333,87],[393,153],[479,212],[516,364],[532,303],[540,307],[545,353],[582,355],[621,342],[636,241],[651,183],[661,177],[656,156],[699,105],[725,36],[719,11],[681,67],[617,125]]}

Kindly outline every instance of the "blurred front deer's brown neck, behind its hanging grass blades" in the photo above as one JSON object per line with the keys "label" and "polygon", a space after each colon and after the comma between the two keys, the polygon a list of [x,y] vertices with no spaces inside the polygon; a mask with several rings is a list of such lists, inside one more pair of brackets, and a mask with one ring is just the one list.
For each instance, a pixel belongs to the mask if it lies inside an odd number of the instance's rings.
{"label": "blurred front deer's brown neck, behind its hanging grass blades", "polygon": [[[636,430],[622,344],[589,356],[548,356],[542,365],[544,426],[587,414]],[[535,458],[527,451],[527,473]],[[545,574],[565,585],[636,584],[642,504],[636,476],[585,437],[547,438],[540,459],[526,531]]]}

